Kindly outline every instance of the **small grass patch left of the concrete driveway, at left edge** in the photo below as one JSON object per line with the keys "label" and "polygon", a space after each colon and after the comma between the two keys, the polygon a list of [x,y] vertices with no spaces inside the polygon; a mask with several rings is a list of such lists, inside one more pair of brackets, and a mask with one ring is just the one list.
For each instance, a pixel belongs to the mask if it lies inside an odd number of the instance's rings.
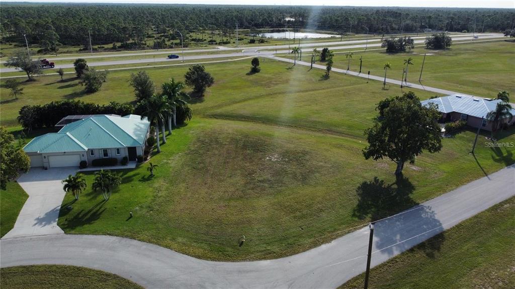
{"label": "small grass patch left of the concrete driveway, at left edge", "polygon": [[0,190],[0,237],[9,232],[29,196],[16,182],[8,182],[6,190]]}

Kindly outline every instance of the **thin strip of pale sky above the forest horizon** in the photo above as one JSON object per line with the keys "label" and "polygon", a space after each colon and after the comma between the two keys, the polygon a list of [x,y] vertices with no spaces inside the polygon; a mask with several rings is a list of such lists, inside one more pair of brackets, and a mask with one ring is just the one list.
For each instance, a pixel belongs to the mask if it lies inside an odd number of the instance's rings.
{"label": "thin strip of pale sky above the forest horizon", "polygon": [[[2,2],[0,0],[0,2]],[[10,0],[8,2],[27,2]],[[399,6],[399,7],[470,7],[470,8],[515,8],[515,0],[32,0],[28,2],[74,2],[74,3],[167,3],[167,4],[230,4],[230,5],[320,5],[325,6]]]}

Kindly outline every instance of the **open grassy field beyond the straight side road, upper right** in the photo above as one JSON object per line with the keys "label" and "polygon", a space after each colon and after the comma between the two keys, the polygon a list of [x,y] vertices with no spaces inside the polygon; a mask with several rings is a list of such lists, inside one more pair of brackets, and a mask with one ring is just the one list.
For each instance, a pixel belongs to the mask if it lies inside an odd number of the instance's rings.
{"label": "open grassy field beyond the straight side road, upper right", "polygon": [[[481,97],[495,97],[498,91],[515,93],[515,53],[513,43],[505,41],[455,44],[448,50],[416,47],[406,53],[386,53],[384,50],[356,52],[351,70],[359,71],[359,57],[363,56],[362,72],[384,75],[384,64],[390,62],[387,77],[401,79],[404,59],[413,58],[408,67],[408,81],[418,83],[424,53],[427,53],[422,84],[445,88]],[[307,58],[305,59],[309,61]],[[347,69],[345,53],[334,56],[334,67]]]}

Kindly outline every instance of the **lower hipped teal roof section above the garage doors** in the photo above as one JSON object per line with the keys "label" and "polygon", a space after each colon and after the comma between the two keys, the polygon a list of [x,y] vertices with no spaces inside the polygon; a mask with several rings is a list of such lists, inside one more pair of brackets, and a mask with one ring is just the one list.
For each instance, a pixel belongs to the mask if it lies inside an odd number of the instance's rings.
{"label": "lower hipped teal roof section above the garage doors", "polygon": [[68,133],[48,133],[33,138],[23,148],[26,153],[83,152],[88,150]]}

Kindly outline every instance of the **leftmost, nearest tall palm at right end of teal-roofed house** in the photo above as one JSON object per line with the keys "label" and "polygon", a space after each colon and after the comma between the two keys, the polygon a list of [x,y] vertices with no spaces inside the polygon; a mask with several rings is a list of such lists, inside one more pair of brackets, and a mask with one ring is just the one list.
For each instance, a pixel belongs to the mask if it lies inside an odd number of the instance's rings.
{"label": "leftmost, nearest tall palm at right end of teal-roofed house", "polygon": [[[141,118],[147,117],[150,123],[154,123],[156,126],[156,143],[158,147],[158,153],[161,152],[159,144],[159,125],[163,123],[164,115],[168,110],[168,99],[165,96],[153,95],[147,99],[142,100],[138,104],[139,111],[142,111]],[[163,126],[164,132],[164,126]],[[166,137],[163,133],[163,143],[166,143]]]}

